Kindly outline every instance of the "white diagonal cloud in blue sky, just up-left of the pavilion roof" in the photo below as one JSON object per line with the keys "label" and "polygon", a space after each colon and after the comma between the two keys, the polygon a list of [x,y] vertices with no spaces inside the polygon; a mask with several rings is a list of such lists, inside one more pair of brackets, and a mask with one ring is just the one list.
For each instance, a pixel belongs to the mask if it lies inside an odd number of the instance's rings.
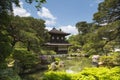
{"label": "white diagonal cloud in blue sky, just up-left of the pavilion roof", "polygon": [[56,17],[46,7],[42,7],[41,11],[38,11],[37,14],[45,20],[46,25],[54,25],[56,23]]}

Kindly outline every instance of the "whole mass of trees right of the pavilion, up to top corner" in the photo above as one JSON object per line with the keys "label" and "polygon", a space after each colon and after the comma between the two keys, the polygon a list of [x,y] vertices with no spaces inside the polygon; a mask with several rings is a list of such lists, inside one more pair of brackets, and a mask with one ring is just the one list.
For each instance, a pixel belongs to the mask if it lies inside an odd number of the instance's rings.
{"label": "whole mass of trees right of the pavilion, up to top corner", "polygon": [[[88,54],[101,54],[120,48],[120,0],[105,0],[93,15],[94,23],[76,23],[79,34],[70,37]],[[79,36],[79,37],[78,37]],[[72,39],[71,39],[72,38]]]}

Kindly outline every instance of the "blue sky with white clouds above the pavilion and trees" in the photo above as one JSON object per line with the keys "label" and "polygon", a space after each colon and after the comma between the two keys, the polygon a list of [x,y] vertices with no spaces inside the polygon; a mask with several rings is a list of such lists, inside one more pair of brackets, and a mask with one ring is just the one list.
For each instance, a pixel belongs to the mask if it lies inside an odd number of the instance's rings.
{"label": "blue sky with white clouds above the pavilion and trees", "polygon": [[21,7],[13,5],[14,15],[43,19],[48,30],[55,27],[77,34],[75,24],[80,21],[92,22],[93,14],[103,0],[47,0],[39,11],[35,8],[35,3],[30,5],[24,1],[20,0]]}

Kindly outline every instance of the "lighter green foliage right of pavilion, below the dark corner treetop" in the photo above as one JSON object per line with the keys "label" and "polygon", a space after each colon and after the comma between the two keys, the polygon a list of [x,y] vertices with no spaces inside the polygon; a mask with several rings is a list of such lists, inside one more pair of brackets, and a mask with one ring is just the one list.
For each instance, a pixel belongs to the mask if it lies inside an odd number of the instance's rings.
{"label": "lighter green foliage right of pavilion, below the dark corner treetop", "polygon": [[109,23],[105,26],[93,24],[88,28],[89,33],[86,33],[84,35],[79,34],[77,36],[73,35],[72,37],[70,37],[70,41],[81,46],[82,52],[88,54],[107,54],[113,51],[116,47],[120,47],[119,25],[119,20]]}

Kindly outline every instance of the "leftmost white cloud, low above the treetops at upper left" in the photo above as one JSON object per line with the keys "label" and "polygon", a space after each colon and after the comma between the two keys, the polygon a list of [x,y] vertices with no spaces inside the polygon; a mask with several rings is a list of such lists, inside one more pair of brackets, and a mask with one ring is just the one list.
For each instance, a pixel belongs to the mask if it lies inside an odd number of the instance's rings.
{"label": "leftmost white cloud, low above the treetops at upper left", "polygon": [[16,7],[15,4],[13,4],[13,13],[15,16],[18,15],[20,17],[28,17],[31,15],[26,9],[23,8],[23,2],[20,2],[20,7]]}

